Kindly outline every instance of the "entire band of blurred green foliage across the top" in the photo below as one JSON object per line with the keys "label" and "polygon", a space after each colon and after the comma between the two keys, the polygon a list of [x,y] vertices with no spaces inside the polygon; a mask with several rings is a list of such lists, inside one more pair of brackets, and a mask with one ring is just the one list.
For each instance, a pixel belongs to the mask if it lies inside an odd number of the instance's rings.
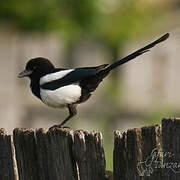
{"label": "entire band of blurred green foliage across the top", "polygon": [[146,32],[159,7],[142,0],[3,0],[0,27],[19,31],[57,31],[70,40],[93,35],[112,48]]}

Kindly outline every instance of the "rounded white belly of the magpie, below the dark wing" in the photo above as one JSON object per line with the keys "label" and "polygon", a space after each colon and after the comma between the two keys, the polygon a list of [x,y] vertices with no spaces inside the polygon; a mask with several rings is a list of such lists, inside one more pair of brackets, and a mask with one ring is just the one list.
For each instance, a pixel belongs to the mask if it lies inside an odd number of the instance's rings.
{"label": "rounded white belly of the magpie, below the dark wing", "polygon": [[71,84],[60,87],[56,90],[40,89],[42,101],[48,106],[55,108],[63,108],[67,104],[74,103],[81,96],[81,88],[79,85]]}

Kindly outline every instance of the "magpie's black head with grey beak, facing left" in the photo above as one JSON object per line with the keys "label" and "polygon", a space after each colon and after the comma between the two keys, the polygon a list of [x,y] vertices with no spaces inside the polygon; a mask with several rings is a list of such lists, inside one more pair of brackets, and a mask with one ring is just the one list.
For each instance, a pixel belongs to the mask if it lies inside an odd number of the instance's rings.
{"label": "magpie's black head with grey beak, facing left", "polygon": [[48,59],[38,57],[29,60],[26,64],[25,70],[19,73],[18,77],[42,77],[47,73],[52,72],[53,69],[54,65]]}

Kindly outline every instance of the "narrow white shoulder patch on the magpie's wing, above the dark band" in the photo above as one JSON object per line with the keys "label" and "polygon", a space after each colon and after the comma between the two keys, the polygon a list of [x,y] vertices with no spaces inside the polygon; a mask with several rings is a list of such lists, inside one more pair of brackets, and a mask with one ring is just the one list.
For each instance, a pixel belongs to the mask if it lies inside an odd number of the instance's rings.
{"label": "narrow white shoulder patch on the magpie's wing, above the dark band", "polygon": [[43,76],[42,78],[40,78],[40,85],[43,85],[45,83],[48,83],[57,79],[61,79],[72,71],[74,71],[74,69],[61,70],[55,73],[47,74]]}

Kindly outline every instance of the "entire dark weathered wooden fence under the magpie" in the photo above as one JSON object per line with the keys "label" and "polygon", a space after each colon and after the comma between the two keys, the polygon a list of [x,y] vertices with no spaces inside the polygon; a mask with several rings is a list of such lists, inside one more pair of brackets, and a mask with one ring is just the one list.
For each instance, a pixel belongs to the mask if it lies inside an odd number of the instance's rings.
{"label": "entire dark weathered wooden fence under the magpie", "polygon": [[113,158],[112,177],[99,132],[0,129],[0,180],[179,180],[180,119],[115,131]]}

